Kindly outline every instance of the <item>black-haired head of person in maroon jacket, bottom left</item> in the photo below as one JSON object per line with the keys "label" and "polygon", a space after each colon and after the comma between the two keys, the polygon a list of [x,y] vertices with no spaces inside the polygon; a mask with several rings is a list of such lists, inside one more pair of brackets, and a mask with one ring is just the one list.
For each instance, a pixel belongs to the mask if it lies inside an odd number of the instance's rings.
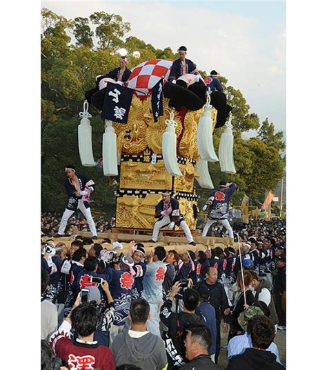
{"label": "black-haired head of person in maroon jacket, bottom left", "polygon": [[100,313],[93,304],[86,302],[72,310],[71,320],[76,333],[81,337],[88,337],[97,330]]}

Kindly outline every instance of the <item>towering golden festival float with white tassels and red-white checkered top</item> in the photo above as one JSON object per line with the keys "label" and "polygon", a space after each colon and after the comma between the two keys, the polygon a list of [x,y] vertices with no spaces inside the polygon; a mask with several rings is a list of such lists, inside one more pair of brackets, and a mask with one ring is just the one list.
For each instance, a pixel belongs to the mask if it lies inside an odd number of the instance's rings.
{"label": "towering golden festival float with white tassels and red-white checkered top", "polygon": [[[223,172],[236,172],[231,113],[222,128],[217,156],[212,131],[217,127],[219,98],[215,92],[208,93],[203,80],[188,87],[168,82],[171,66],[171,61],[163,59],[142,62],[132,68],[125,86],[103,78],[99,89],[86,93],[79,124],[81,163],[95,165],[91,104],[101,111],[104,122],[103,175],[119,178],[115,225],[119,232],[150,234],[156,221],[155,206],[161,193],[170,190],[196,234],[199,197],[195,180],[213,189],[208,162],[219,163]],[[179,234],[179,228],[175,226],[172,234]]]}

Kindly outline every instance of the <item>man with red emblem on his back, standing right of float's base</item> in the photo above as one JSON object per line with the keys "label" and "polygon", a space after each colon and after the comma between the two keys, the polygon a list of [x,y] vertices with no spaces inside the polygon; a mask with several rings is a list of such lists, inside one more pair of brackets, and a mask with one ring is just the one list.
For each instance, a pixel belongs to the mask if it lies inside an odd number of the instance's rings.
{"label": "man with red emblem on his back, standing right of float's base", "polygon": [[204,225],[202,237],[206,237],[210,226],[215,223],[221,223],[228,231],[228,236],[234,238],[232,227],[228,222],[229,200],[235,192],[237,185],[235,183],[225,183],[220,181],[219,189],[212,192],[206,202],[206,208],[209,207],[208,220]]}

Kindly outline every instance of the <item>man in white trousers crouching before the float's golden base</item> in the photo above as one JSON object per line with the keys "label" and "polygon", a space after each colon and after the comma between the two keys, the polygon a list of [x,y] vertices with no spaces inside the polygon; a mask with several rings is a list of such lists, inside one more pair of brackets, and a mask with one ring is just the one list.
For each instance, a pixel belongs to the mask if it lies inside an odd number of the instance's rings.
{"label": "man in white trousers crouching before the float's golden base", "polygon": [[181,226],[183,228],[188,243],[195,246],[195,242],[190,232],[188,224],[184,221],[183,215],[179,212],[179,202],[171,197],[171,192],[166,191],[162,193],[162,199],[155,207],[155,217],[159,218],[155,225],[153,226],[152,238],[150,242],[155,243],[158,239],[158,234],[160,228],[166,225],[172,229],[174,225]]}

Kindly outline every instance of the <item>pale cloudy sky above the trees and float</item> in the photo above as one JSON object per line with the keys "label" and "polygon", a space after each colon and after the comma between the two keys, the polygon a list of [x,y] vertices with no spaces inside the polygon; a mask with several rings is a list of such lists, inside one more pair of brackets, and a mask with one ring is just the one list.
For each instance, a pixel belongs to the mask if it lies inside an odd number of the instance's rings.
{"label": "pale cloudy sky above the trees and float", "polygon": [[174,51],[185,45],[199,69],[227,77],[250,112],[285,135],[285,1],[42,1],[41,6],[68,19],[101,10],[119,14],[131,25],[126,37]]}

